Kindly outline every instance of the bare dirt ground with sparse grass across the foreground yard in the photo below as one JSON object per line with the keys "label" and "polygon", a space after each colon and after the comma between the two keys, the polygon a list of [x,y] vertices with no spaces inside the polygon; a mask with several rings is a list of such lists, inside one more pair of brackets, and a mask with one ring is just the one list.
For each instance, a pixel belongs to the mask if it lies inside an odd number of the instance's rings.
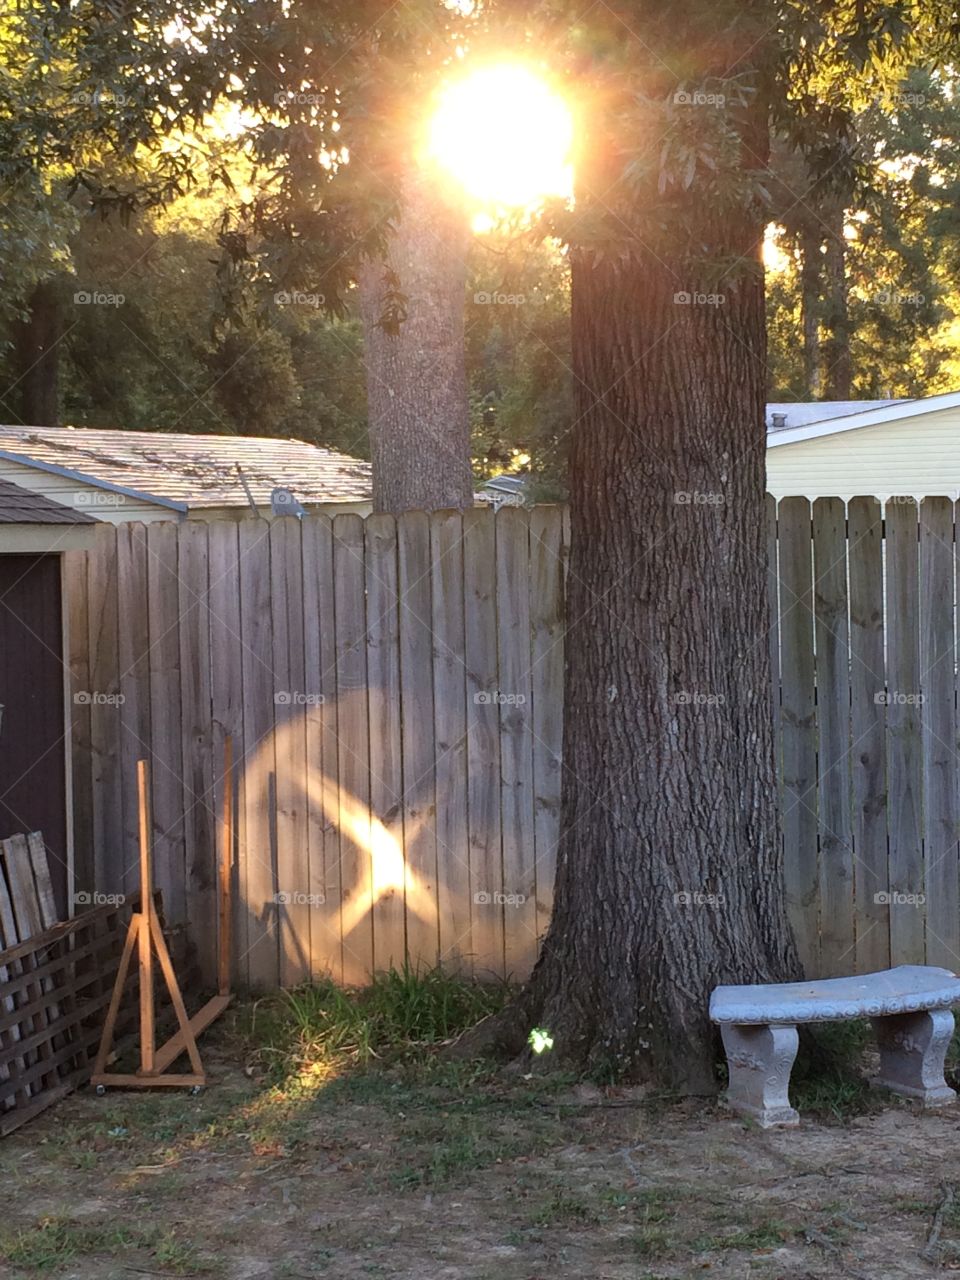
{"label": "bare dirt ground with sparse grass across the foreground yard", "polygon": [[[476,1068],[86,1089],[0,1142],[0,1275],[896,1280],[960,1270],[960,1107],[763,1133]],[[954,1185],[956,1202],[951,1202]],[[931,1240],[931,1235],[933,1239]]]}

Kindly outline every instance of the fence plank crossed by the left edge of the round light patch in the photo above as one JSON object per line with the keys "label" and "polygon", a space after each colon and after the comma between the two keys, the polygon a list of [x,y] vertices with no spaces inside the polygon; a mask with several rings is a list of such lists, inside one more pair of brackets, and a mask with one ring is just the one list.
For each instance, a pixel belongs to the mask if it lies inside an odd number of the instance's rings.
{"label": "fence plank crossed by the left edge of the round light patch", "polygon": [[241,950],[255,988],[279,980],[274,796],[274,672],[270,602],[270,526],[239,525],[241,635],[243,637],[243,826],[239,833],[241,901],[246,904]]}

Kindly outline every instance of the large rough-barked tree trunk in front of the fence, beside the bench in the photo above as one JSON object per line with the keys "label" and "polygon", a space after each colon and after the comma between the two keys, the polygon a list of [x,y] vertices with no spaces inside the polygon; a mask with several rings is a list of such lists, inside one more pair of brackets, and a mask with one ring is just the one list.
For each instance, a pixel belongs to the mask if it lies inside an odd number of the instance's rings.
{"label": "large rough-barked tree trunk in front of the fence, beside the bench", "polygon": [[[759,241],[727,248],[759,262]],[[799,961],[769,695],[763,280],[705,305],[677,303],[678,279],[663,253],[572,255],[562,836],[500,1047],[540,1025],[559,1062],[709,1093],[712,988]]]}

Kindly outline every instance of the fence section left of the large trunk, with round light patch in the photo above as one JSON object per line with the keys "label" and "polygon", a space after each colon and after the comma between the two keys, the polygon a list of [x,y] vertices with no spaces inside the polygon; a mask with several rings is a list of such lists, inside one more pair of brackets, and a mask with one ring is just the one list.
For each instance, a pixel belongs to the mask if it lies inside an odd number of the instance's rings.
{"label": "fence section left of the large trunk, with round light patch", "polygon": [[[70,553],[77,882],[129,893],[152,759],[205,966],[225,735],[238,980],[524,974],[552,904],[563,512],[104,526]],[[96,900],[96,899],[95,899]]]}

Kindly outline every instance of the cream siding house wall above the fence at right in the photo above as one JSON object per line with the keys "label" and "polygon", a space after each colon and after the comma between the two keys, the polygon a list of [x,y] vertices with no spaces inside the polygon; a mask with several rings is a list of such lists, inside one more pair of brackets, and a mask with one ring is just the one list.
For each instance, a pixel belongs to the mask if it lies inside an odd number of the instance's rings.
{"label": "cream siding house wall above the fence at right", "polygon": [[774,498],[960,497],[960,408],[767,449]]}

